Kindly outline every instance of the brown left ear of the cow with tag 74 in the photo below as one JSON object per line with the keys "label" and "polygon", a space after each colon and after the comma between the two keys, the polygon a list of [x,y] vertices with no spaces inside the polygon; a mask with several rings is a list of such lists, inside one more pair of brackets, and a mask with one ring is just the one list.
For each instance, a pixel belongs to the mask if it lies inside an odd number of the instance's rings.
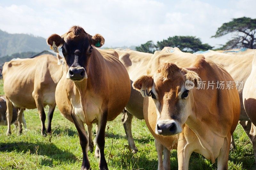
{"label": "brown left ear of the cow with tag 74", "polygon": [[132,87],[138,91],[140,91],[142,86],[145,88],[151,89],[153,86],[153,83],[154,83],[154,79],[152,75],[141,76],[140,78],[138,78],[132,83]]}

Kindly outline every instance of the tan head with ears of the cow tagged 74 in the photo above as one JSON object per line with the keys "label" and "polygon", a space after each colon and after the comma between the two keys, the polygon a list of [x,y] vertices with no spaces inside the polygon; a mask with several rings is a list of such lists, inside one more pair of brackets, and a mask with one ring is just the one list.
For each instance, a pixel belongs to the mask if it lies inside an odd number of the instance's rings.
{"label": "tan head with ears of the cow tagged 74", "polygon": [[182,126],[191,114],[193,90],[187,90],[186,80],[195,85],[200,81],[197,73],[181,69],[173,63],[165,63],[154,75],[142,76],[133,82],[133,88],[151,89],[156,105],[156,129],[158,135],[174,135],[182,132]]}

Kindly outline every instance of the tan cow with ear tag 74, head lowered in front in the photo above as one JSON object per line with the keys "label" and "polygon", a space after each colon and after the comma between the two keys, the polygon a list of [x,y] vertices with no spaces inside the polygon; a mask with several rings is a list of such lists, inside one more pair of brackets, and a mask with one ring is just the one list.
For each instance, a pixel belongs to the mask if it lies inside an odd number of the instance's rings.
{"label": "tan cow with ear tag 74, head lowered in front", "polygon": [[[231,89],[216,87],[218,81],[234,80],[223,67],[203,55],[169,49],[156,51],[148,64],[149,74],[133,83],[138,91],[151,89],[152,98],[145,98],[143,107],[147,126],[164,146],[173,144],[166,140],[168,135],[179,134],[179,169],[188,169],[192,152],[212,163],[218,158],[218,169],[228,169],[231,134],[240,115],[239,95],[234,85]],[[187,80],[198,88],[188,90]],[[204,89],[200,87],[204,81],[215,84]]]}

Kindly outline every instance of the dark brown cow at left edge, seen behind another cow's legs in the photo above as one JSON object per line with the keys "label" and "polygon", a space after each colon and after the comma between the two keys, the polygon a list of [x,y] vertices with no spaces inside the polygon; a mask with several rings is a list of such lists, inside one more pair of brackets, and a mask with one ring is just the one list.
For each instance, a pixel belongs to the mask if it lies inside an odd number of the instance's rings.
{"label": "dark brown cow at left edge, seen behind another cow's legs", "polygon": [[[3,126],[7,126],[6,109],[7,109],[7,106],[6,106],[5,96],[2,95],[2,96],[0,96],[0,125],[3,125]],[[20,113],[18,113],[18,109],[16,107],[13,107],[11,124],[15,123],[16,129],[17,129],[17,125],[18,125],[17,117],[19,114]],[[24,115],[22,116],[21,122],[23,123],[24,127],[26,128],[26,120],[24,118]]]}

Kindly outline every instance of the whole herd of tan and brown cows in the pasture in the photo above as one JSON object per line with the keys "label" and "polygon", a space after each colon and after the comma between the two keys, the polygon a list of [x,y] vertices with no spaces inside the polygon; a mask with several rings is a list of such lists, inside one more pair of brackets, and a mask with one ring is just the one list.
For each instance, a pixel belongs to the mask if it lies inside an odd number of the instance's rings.
{"label": "whole herd of tan and brown cows in the pasture", "polygon": [[[106,123],[123,112],[122,122],[133,152],[138,149],[132,137],[132,118],[145,119],[155,138],[158,170],[170,169],[172,149],[177,150],[179,169],[188,169],[192,152],[212,163],[218,158],[218,169],[228,169],[229,150],[235,148],[232,134],[239,121],[256,158],[256,50],[191,54],[165,47],[148,54],[97,49],[104,41],[100,34],[91,36],[73,26],[62,36],[52,34],[47,39],[55,52],[61,46],[64,58],[41,55],[6,62],[0,124],[8,126],[7,135],[12,123],[22,133],[25,108],[37,108],[41,134],[51,133],[57,105],[76,126],[83,152],[81,169],[90,169],[87,152],[94,148],[92,123],[96,123],[95,157],[100,158],[99,168],[103,170],[108,169],[104,156]],[[187,82],[193,86],[188,87]],[[47,129],[46,105],[50,107]]]}

